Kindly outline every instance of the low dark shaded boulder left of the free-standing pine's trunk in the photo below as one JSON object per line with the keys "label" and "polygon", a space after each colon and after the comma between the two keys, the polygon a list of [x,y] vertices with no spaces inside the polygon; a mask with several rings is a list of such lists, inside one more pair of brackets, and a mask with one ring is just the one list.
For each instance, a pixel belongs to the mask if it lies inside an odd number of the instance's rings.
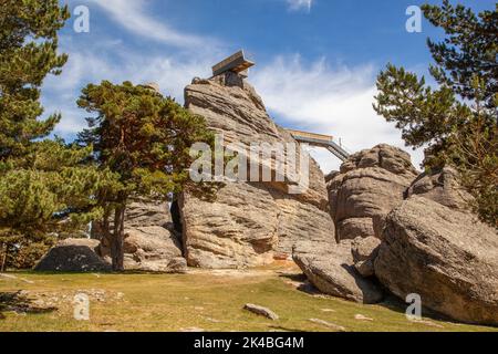
{"label": "low dark shaded boulder left of the free-standing pine's trunk", "polygon": [[111,264],[95,252],[97,247],[97,240],[66,239],[60,241],[34,266],[34,270],[61,272],[110,271]]}

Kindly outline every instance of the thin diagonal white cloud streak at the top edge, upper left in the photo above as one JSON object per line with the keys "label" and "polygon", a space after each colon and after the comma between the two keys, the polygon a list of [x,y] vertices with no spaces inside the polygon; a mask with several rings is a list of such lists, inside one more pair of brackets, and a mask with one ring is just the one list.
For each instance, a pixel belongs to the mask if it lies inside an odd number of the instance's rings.
{"label": "thin diagonal white cloud streak at the top edge, upper left", "polygon": [[176,30],[164,21],[158,21],[145,10],[144,0],[86,0],[89,4],[98,6],[114,21],[143,38],[159,41],[179,48],[217,45],[214,40]]}

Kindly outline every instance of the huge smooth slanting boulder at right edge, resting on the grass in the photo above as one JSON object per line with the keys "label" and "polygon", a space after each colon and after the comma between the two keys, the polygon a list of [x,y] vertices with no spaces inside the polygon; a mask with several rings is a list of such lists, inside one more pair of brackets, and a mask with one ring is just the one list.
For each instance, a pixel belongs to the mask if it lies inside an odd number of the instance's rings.
{"label": "huge smooth slanting boulder at right edge, resting on the grass", "polygon": [[375,275],[455,320],[498,324],[498,235],[475,216],[413,196],[386,218]]}

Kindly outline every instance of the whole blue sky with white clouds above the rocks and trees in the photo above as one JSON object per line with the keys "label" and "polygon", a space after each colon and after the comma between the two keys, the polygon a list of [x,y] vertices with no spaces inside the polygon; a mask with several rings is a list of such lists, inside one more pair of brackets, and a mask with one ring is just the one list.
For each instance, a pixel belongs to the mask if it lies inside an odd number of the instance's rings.
{"label": "whole blue sky with white clouds above the rocks and trees", "polygon": [[[439,0],[428,0],[440,3]],[[281,126],[330,134],[349,152],[387,143],[409,152],[401,133],[372,108],[375,77],[391,62],[428,75],[427,38],[443,33],[423,20],[408,32],[409,6],[418,0],[65,0],[73,12],[60,32],[69,62],[42,90],[45,115],[62,113],[55,134],[71,140],[86,125],[76,100],[89,83],[156,82],[184,102],[195,76],[243,49],[257,65],[249,82]],[[495,0],[461,0],[476,11]],[[89,32],[76,32],[74,11],[89,9]],[[81,14],[77,12],[76,14]],[[430,80],[428,81],[430,83]],[[341,162],[312,148],[325,173]]]}

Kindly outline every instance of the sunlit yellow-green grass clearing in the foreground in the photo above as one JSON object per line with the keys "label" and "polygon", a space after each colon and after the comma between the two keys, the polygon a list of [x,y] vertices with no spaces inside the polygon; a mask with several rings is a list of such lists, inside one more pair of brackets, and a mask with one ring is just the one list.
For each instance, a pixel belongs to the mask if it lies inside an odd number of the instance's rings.
{"label": "sunlit yellow-green grass clearing in the foreground", "polygon": [[[437,319],[411,322],[403,304],[393,301],[362,305],[310,294],[297,289],[298,273],[292,266],[188,274],[9,273],[0,275],[0,332],[332,331],[310,319],[353,332],[498,331]],[[20,290],[24,291],[24,302],[15,303],[17,298],[9,295]],[[73,317],[72,301],[80,292],[90,295],[90,321]],[[267,306],[280,320],[249,313],[242,310],[246,303]],[[373,321],[355,319],[359,314]]]}

